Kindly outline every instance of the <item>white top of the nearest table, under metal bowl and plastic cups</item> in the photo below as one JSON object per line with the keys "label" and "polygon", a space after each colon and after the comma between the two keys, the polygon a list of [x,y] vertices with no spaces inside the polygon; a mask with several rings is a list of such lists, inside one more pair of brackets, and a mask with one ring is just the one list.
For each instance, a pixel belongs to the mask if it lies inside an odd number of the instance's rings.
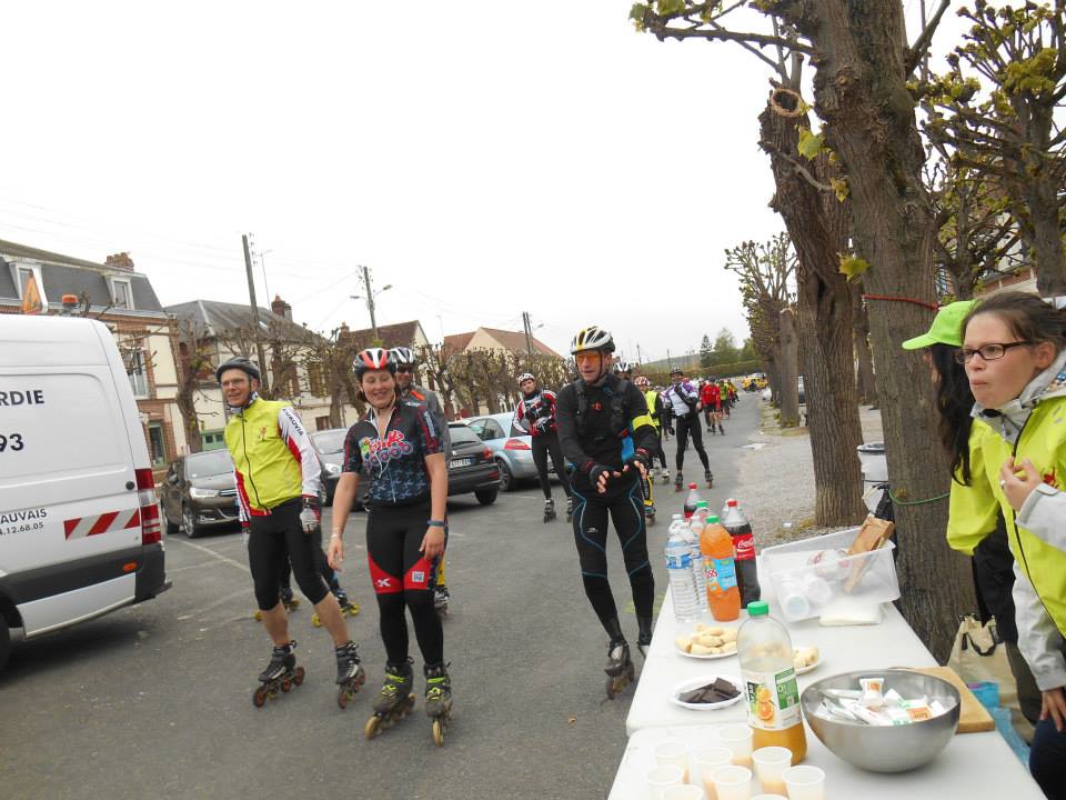
{"label": "white top of the nearest table, under metal bowl and plastic cups", "polygon": [[[609,800],[646,800],[645,774],[655,762],[653,748],[665,739],[693,749],[717,742],[716,726],[645,728],[630,738]],[[911,772],[866,772],[838,759],[807,728],[805,764],[825,770],[826,800],[1044,800],[1044,793],[997,732],[956,736],[931,763]],[[754,781],[754,789],[757,789]],[[754,790],[753,790],[754,794]]]}

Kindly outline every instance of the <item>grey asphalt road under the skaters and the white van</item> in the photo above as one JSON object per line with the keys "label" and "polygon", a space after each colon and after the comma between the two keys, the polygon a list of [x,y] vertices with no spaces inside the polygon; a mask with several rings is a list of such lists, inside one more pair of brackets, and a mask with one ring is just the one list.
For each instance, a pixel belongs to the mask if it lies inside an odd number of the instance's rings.
{"label": "grey asphalt road under the skaters and the white van", "polygon": [[[745,394],[727,434],[705,436],[712,509],[732,491],[740,446],[756,422],[757,403]],[[673,473],[673,441],[666,452]],[[691,447],[686,467],[690,478],[702,472]],[[554,493],[562,509],[561,488]],[[661,553],[670,513],[683,498],[656,486],[660,521],[648,544],[657,599],[667,586]],[[605,797],[625,748],[632,688],[606,700],[606,639],[582,591],[572,528],[562,516],[542,523],[542,502],[535,484],[491,507],[473,496],[449,502],[453,600],[444,636],[455,716],[442,749],[422,710],[413,634],[415,711],[378,739],[363,738],[384,651],[361,557],[365,518],[353,514],[341,582],[362,607],[350,627],[370,678],[346,711],[335,702],[332,643],[312,628],[306,601],[291,623],[306,681],[253,708],[270,643],[252,619],[241,537],[169,537],[169,592],[16,647],[0,674],[0,797]],[[616,544],[609,557],[632,641],[636,621]]]}

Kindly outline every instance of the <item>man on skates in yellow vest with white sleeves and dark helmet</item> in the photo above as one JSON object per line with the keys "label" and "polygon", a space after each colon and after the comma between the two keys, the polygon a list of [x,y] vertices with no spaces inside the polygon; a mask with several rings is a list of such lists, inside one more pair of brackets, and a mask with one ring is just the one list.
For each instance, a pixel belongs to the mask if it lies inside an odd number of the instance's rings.
{"label": "man on skates in yellow vest with white sleeves and dark helmet", "polygon": [[[285,681],[300,683],[295,641],[289,638],[289,616],[281,601],[279,574],[292,563],[300,591],[333,637],[339,699],[354,693],[365,680],[355,642],[348,632],[336,598],[315,566],[321,539],[318,456],[300,418],[285,402],[259,397],[259,368],[233,358],[215,370],[229,407],[225,447],[233,459],[241,528],[248,534],[248,561],[263,627],[274,643],[270,663],[259,676],[255,704],[262,706]],[[249,433],[250,431],[250,433]]]}

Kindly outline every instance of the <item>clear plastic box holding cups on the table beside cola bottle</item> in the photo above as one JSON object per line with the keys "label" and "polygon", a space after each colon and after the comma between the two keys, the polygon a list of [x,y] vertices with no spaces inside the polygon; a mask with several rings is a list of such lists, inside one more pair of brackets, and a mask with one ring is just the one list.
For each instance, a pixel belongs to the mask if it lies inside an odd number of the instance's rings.
{"label": "clear plastic box holding cups on the table beside cola bottle", "polygon": [[899,597],[892,541],[872,552],[839,554],[846,553],[858,530],[848,528],[762,551],[760,578],[773,586],[785,619],[796,622]]}

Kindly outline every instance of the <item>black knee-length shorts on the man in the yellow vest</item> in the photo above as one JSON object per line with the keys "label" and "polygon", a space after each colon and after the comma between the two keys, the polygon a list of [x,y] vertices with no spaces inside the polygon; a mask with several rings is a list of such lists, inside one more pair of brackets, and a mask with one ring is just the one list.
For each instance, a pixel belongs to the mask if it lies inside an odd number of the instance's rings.
{"label": "black knee-length shorts on the man in the yellow vest", "polygon": [[278,604],[280,576],[290,561],[300,591],[312,604],[318,606],[329,594],[315,562],[315,551],[322,549],[321,533],[303,532],[301,509],[302,502],[298,498],[276,507],[266,517],[252,516],[248,563],[255,584],[255,602],[262,611]]}

